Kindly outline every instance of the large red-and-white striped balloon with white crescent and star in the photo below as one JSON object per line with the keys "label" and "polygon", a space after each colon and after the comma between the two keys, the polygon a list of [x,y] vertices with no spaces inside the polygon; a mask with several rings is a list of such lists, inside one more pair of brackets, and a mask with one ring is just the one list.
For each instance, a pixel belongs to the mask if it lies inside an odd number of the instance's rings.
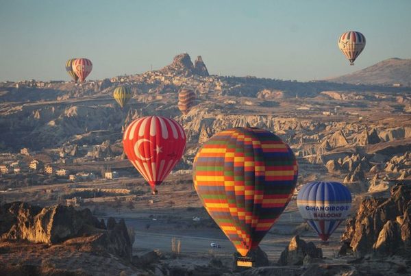
{"label": "large red-and-white striped balloon with white crescent and star", "polygon": [[163,116],[147,116],[130,123],[124,131],[127,158],[151,187],[153,194],[179,162],[186,147],[186,133],[179,123]]}

